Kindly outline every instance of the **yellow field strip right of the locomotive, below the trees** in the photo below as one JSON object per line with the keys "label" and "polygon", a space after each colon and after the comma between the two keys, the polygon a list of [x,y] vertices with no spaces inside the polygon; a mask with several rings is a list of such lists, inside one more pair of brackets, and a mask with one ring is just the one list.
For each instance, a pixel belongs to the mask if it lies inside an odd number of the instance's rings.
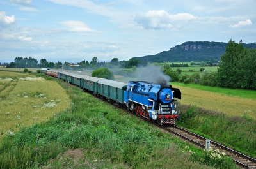
{"label": "yellow field strip right of the locomotive, below the trees", "polygon": [[[234,94],[221,94],[220,92],[203,91],[200,89],[193,89],[191,87],[184,87],[182,84],[173,83],[173,87],[177,87],[182,92],[182,99],[180,103],[185,105],[196,105],[207,110],[214,110],[216,112],[225,113],[227,115],[243,116],[244,114],[256,119],[256,99],[246,98],[246,96],[239,96],[239,92],[252,92],[237,89],[226,89],[236,91]],[[199,85],[198,85],[199,86]],[[217,87],[211,87],[214,90]],[[225,90],[225,89],[223,89]],[[237,93],[237,95],[235,95]],[[249,95],[249,94],[248,94]]]}

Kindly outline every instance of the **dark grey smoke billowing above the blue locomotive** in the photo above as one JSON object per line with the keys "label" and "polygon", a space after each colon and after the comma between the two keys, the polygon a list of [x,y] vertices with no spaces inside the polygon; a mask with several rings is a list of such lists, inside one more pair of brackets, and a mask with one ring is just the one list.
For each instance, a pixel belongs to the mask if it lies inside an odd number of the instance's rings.
{"label": "dark grey smoke billowing above the blue locomotive", "polygon": [[168,75],[164,75],[161,68],[150,64],[145,68],[136,70],[134,75],[138,75],[142,81],[152,82],[154,84],[168,84],[171,78]]}

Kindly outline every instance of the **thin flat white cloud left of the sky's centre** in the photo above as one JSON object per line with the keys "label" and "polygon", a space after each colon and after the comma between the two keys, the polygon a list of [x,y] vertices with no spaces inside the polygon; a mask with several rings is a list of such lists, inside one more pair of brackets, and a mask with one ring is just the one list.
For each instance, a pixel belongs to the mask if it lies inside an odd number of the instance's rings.
{"label": "thin flat white cloud left of the sky's centre", "polygon": [[60,24],[63,24],[64,26],[68,27],[69,31],[75,31],[75,32],[83,32],[83,31],[89,31],[89,32],[95,32],[90,27],[88,27],[84,22],[77,21],[77,20],[67,20],[63,22],[58,22]]}

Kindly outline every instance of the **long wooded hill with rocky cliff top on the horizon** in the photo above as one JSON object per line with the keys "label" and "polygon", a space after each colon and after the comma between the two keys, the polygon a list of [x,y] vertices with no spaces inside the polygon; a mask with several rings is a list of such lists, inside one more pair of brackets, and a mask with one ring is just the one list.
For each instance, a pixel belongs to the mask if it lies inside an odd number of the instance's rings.
{"label": "long wooded hill with rocky cliff top on the horizon", "polygon": [[[143,62],[201,62],[205,60],[219,61],[225,53],[227,43],[210,41],[187,41],[176,45],[168,51],[156,55],[133,57]],[[244,47],[256,48],[256,43],[243,43]]]}

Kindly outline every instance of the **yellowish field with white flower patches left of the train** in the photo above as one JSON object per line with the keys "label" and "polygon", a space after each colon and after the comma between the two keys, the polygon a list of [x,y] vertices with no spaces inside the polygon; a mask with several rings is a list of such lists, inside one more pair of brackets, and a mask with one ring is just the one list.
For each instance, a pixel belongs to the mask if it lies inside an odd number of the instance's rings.
{"label": "yellowish field with white flower patches left of the train", "polygon": [[0,71],[0,133],[46,121],[65,110],[70,99],[56,82],[33,75]]}

